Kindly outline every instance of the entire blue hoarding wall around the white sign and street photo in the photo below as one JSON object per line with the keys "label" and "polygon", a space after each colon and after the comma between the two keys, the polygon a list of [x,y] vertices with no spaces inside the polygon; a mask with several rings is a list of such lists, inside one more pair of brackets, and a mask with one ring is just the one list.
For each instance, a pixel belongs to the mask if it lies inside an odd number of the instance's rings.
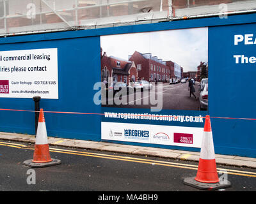
{"label": "entire blue hoarding wall around the white sign and street photo", "polygon": [[[157,24],[129,25],[104,29],[12,36],[0,39],[0,51],[58,48],[58,99],[42,99],[41,108],[52,112],[129,112],[149,113],[141,108],[108,108],[93,102],[93,85],[100,82],[100,36],[208,27],[209,108],[197,110],[162,110],[163,115],[202,115],[243,119],[212,118],[212,134],[216,154],[255,157],[255,76],[256,15],[180,20]],[[1,64],[0,64],[1,66]],[[1,73],[0,73],[1,74]],[[1,77],[0,77],[1,79]],[[33,99],[0,98],[0,108],[33,110]],[[160,114],[160,113],[159,113]],[[33,112],[0,112],[0,131],[35,133]],[[164,126],[204,127],[203,122],[163,120],[106,119],[102,115],[45,113],[48,136],[101,140],[101,121]],[[169,146],[143,142],[120,142],[132,145],[195,150],[198,148]]]}

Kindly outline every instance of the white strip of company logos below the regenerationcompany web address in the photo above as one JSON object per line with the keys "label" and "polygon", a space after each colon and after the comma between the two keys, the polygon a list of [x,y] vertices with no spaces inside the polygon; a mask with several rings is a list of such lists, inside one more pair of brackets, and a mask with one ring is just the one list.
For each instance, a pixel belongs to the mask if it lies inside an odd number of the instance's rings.
{"label": "white strip of company logos below the regenerationcompany web address", "polygon": [[103,140],[201,147],[204,128],[101,122]]}

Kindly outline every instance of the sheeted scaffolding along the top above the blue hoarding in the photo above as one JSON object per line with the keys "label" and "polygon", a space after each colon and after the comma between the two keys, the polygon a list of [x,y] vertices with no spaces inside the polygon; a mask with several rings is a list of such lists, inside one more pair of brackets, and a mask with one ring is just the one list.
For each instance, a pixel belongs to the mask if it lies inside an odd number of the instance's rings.
{"label": "sheeted scaffolding along the top above the blue hoarding", "polygon": [[0,0],[0,36],[252,13],[248,0]]}

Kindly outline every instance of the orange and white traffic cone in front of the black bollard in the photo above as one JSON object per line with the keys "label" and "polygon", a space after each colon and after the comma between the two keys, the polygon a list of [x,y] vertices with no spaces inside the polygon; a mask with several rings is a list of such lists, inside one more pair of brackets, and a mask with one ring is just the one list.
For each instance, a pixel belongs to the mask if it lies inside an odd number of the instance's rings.
{"label": "orange and white traffic cone in front of the black bollard", "polygon": [[33,159],[26,160],[23,164],[30,167],[44,167],[60,163],[61,161],[59,159],[52,159],[50,156],[44,111],[41,108],[38,119],[38,128],[36,132],[36,142]]}

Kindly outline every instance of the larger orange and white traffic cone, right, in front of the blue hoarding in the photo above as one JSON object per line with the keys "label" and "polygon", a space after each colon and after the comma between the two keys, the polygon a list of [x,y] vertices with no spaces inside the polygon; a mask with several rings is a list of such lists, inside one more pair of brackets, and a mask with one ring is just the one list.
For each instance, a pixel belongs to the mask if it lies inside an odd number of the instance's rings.
{"label": "larger orange and white traffic cone, right, in front of the blue hoarding", "polygon": [[218,178],[209,115],[205,116],[204,135],[196,177],[184,179],[184,184],[204,190],[216,190],[231,186],[228,180],[220,182]]}

